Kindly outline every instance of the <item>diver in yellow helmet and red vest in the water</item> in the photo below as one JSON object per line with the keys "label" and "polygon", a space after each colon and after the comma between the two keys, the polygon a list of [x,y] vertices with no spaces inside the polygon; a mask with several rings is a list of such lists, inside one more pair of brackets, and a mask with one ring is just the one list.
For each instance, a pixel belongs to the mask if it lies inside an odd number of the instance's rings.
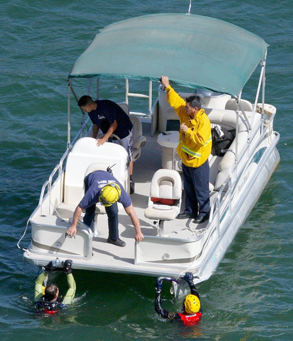
{"label": "diver in yellow helmet and red vest in the water", "polygon": [[201,301],[199,292],[196,290],[193,284],[193,273],[186,272],[184,279],[189,287],[191,293],[187,295],[183,301],[183,313],[172,313],[165,310],[161,303],[161,292],[163,287],[163,280],[168,282],[175,281],[168,277],[158,277],[156,280],[156,301],[155,301],[155,310],[159,313],[163,318],[168,318],[169,320],[175,321],[183,321],[186,326],[194,326],[197,322],[200,321],[202,315]]}

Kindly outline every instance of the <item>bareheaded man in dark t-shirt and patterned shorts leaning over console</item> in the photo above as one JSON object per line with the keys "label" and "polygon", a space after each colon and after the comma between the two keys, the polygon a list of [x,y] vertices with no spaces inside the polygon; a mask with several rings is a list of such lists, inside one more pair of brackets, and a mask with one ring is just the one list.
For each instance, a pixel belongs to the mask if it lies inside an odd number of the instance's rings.
{"label": "bareheaded man in dark t-shirt and patterned shorts leaning over console", "polygon": [[108,138],[115,133],[120,140],[122,146],[126,149],[129,156],[129,174],[130,174],[130,194],[134,193],[134,182],[132,180],[133,172],[133,139],[132,139],[132,123],[129,116],[115,102],[110,100],[93,101],[90,96],[84,95],[78,101],[78,106],[87,112],[92,123],[92,137],[97,138],[99,129],[105,134],[102,138],[97,139],[97,146],[102,146],[107,142]]}

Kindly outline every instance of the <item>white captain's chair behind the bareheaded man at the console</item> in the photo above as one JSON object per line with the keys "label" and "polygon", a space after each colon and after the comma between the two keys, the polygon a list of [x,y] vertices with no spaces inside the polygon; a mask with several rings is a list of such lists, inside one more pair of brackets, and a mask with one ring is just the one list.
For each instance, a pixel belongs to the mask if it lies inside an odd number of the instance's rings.
{"label": "white captain's chair behind the bareheaded man at the console", "polygon": [[135,162],[136,160],[138,160],[140,158],[141,148],[146,144],[146,137],[143,136],[142,122],[137,116],[131,116],[130,115],[128,104],[126,104],[124,102],[117,103],[117,104],[124,110],[124,112],[126,112],[126,114],[129,116],[130,121],[133,125],[133,128],[132,128],[132,139],[133,139],[132,158],[133,158],[133,162]]}

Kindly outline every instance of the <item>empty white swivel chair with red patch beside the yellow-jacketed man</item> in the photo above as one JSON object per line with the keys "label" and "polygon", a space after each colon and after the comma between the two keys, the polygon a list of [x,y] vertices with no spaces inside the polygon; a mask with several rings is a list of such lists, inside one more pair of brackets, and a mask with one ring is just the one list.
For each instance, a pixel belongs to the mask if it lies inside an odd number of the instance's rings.
{"label": "empty white swivel chair with red patch beside the yellow-jacketed man", "polygon": [[174,169],[159,169],[150,185],[148,207],[145,217],[159,220],[159,236],[164,233],[164,221],[174,220],[180,212],[182,182]]}

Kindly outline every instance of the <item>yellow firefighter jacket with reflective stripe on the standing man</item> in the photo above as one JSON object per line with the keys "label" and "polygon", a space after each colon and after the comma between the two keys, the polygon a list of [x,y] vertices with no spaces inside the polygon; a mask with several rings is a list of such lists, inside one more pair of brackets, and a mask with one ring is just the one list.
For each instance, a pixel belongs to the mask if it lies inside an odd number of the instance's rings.
{"label": "yellow firefighter jacket with reflective stripe on the standing man", "polygon": [[178,115],[180,124],[185,123],[188,127],[185,133],[179,131],[177,153],[183,164],[197,168],[206,162],[211,153],[210,121],[204,109],[200,109],[191,119],[186,114],[185,100],[170,85],[165,90],[167,100]]}

